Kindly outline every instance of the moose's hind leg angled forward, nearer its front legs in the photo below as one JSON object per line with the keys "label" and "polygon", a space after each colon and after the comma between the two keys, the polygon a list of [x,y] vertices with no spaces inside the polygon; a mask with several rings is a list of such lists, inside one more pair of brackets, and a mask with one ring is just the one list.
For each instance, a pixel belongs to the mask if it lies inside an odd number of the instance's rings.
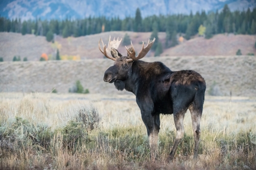
{"label": "moose's hind leg angled forward, nearer its front legs", "polygon": [[184,120],[185,112],[186,112],[186,110],[181,110],[180,112],[177,112],[176,114],[173,115],[174,123],[175,123],[175,127],[176,127],[176,137],[175,137],[175,141],[174,141],[172,150],[168,157],[168,161],[173,159],[174,154],[177,150],[178,144],[180,143],[181,139],[184,136],[183,120]]}

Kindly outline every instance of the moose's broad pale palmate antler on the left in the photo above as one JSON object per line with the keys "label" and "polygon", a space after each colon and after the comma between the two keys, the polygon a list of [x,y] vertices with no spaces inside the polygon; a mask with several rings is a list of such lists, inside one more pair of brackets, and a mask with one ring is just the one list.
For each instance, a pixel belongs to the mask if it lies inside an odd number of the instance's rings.
{"label": "moose's broad pale palmate antler on the left", "polygon": [[[104,51],[101,50],[100,40],[103,45]],[[111,56],[110,50],[111,50],[111,48],[117,49],[119,47],[121,41],[122,41],[122,39],[120,41],[118,41],[118,38],[115,40],[115,37],[114,37],[114,40],[111,41],[111,37],[109,36],[109,45],[108,45],[108,48],[106,48],[106,44],[104,45],[103,40],[100,38],[98,41],[98,48],[107,58],[116,61],[116,59]]]}

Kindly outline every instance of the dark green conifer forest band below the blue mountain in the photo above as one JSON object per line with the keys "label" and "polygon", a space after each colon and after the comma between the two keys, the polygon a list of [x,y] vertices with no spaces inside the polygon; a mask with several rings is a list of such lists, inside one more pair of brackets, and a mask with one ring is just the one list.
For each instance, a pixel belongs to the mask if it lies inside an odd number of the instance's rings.
{"label": "dark green conifer forest band below the blue mountain", "polygon": [[73,36],[80,37],[91,34],[109,31],[134,31],[134,32],[166,32],[166,47],[173,46],[173,37],[177,33],[185,35],[190,39],[198,33],[198,27],[206,27],[205,36],[211,38],[215,34],[256,34],[256,8],[252,11],[234,11],[224,6],[221,12],[206,13],[205,11],[192,12],[186,14],[173,15],[153,15],[145,18],[141,17],[140,9],[136,10],[135,17],[106,18],[88,17],[84,19],[65,20],[24,20],[8,19],[0,17],[0,32],[14,32],[25,34],[35,34],[45,36],[47,41],[52,41],[54,34],[64,38]]}

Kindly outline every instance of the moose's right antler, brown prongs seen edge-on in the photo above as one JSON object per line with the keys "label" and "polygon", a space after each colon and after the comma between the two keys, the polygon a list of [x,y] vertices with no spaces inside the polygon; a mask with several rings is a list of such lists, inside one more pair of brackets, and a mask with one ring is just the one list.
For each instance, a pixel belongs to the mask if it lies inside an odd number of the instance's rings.
{"label": "moose's right antler, brown prongs seen edge-on", "polygon": [[127,62],[132,62],[132,61],[136,61],[136,60],[140,60],[140,59],[142,59],[146,54],[147,54],[147,52],[150,50],[150,48],[151,48],[151,46],[153,45],[153,43],[155,42],[155,40],[156,40],[156,38],[154,38],[153,40],[150,40],[149,41],[149,39],[148,39],[148,43],[147,43],[147,46],[144,48],[144,42],[142,43],[142,48],[141,48],[141,50],[140,50],[140,53],[139,53],[139,55],[137,56],[137,57],[135,57],[135,54],[136,54],[136,52],[135,52],[135,49],[134,49],[134,47],[133,47],[133,43],[132,43],[132,41],[131,41],[131,45],[132,45],[132,49],[131,49],[131,51],[129,51],[129,49],[127,49],[127,47],[125,46],[125,48],[126,48],[126,50],[127,50],[127,53],[129,54],[129,56],[132,58],[132,59],[128,59],[128,60],[126,60]]}

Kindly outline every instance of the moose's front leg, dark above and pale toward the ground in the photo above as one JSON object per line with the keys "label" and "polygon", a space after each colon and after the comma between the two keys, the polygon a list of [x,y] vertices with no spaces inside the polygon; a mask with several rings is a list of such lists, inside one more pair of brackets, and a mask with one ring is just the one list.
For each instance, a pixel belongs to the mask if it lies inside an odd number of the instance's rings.
{"label": "moose's front leg, dark above and pale toward the ground", "polygon": [[150,147],[150,159],[154,162],[158,155],[158,133],[160,130],[160,115],[142,114],[142,120],[147,128]]}

